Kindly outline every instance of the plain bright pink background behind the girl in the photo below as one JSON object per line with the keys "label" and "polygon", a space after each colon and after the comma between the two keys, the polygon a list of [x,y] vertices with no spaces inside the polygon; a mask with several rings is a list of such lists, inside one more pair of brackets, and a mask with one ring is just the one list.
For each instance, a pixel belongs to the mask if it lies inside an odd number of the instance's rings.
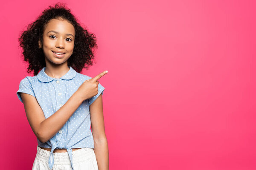
{"label": "plain bright pink background behind the girl", "polygon": [[[16,92],[17,38],[58,1],[2,1],[1,169],[31,169],[36,138]],[[256,3],[70,0],[96,34],[111,170],[256,169]]]}

